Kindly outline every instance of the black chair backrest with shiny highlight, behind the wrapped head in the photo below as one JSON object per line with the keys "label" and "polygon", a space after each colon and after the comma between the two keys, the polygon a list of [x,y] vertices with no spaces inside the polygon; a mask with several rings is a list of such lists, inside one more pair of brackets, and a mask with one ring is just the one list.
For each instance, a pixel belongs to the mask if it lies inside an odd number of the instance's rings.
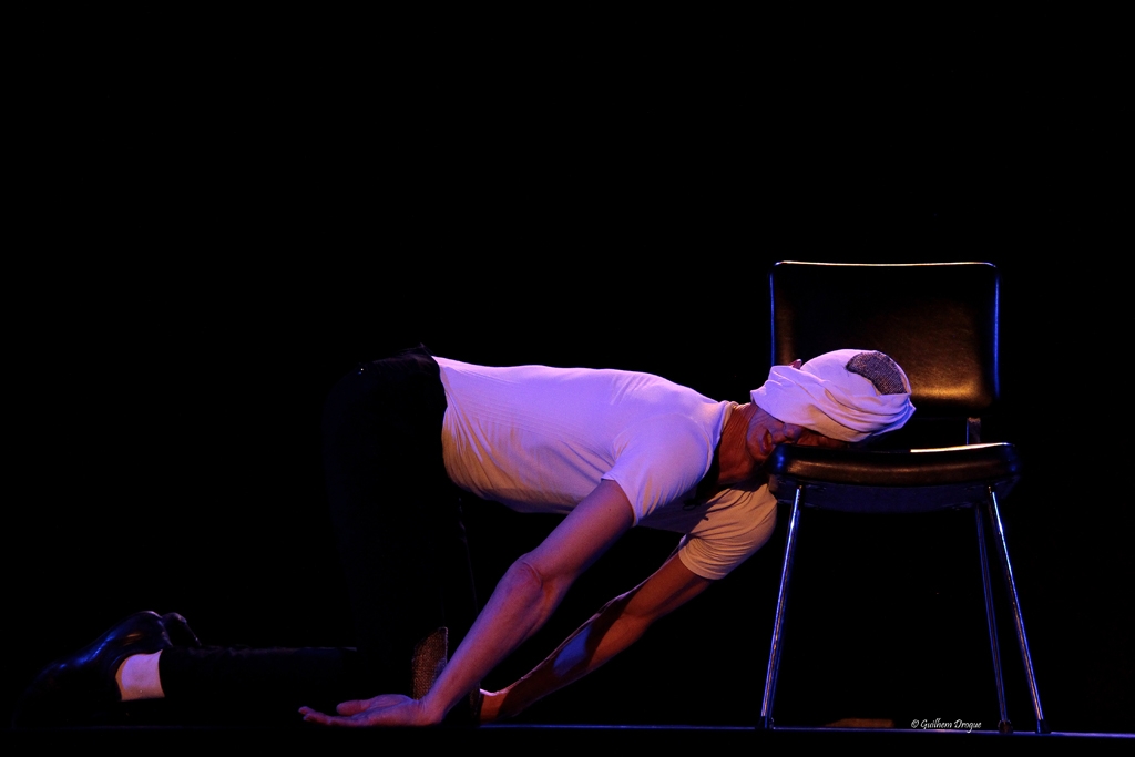
{"label": "black chair backrest with shiny highlight, behind the wrapped head", "polygon": [[770,286],[773,364],[878,350],[910,379],[911,423],[981,419],[997,406],[1000,274],[992,263],[782,261]]}

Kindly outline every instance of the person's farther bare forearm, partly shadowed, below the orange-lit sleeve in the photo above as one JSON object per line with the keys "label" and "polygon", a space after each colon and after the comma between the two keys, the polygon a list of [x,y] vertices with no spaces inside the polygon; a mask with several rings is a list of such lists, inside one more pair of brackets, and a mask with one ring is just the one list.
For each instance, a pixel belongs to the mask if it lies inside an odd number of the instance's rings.
{"label": "person's farther bare forearm, partly shadowed, below the orange-lit sleeve", "polygon": [[604,605],[524,678],[501,691],[486,692],[481,721],[513,717],[587,675],[711,583],[686,567],[676,554],[671,555],[646,581]]}

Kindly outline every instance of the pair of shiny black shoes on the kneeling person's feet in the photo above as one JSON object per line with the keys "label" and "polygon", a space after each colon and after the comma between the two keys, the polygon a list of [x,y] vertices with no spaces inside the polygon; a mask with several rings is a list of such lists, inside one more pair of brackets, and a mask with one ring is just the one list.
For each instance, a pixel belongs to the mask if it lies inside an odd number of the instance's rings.
{"label": "pair of shiny black shoes on the kneeling person's feet", "polygon": [[118,666],[131,655],[174,646],[171,636],[180,644],[201,646],[185,619],[176,613],[134,613],[83,649],[43,668],[16,705],[12,726],[67,727],[112,722],[121,708],[115,681]]}

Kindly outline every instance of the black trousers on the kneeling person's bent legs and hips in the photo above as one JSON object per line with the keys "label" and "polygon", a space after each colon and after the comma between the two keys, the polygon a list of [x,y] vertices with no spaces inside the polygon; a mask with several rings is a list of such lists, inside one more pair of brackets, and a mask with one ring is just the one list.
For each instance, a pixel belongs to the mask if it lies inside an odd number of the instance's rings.
{"label": "black trousers on the kneeling person's bent legs and hips", "polygon": [[442,459],[445,390],[429,354],[420,346],[360,365],[323,412],[327,494],[356,649],[178,647],[161,659],[170,699],[216,698],[218,687],[237,699],[309,705],[409,693],[414,645],[440,626],[451,648],[464,637],[477,600],[461,491]]}

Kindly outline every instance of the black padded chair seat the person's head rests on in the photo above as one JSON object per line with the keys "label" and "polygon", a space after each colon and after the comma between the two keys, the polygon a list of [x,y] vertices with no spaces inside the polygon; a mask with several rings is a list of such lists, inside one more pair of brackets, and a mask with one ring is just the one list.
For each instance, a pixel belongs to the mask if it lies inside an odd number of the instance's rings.
{"label": "black padded chair seat the person's head rests on", "polygon": [[806,507],[855,513],[923,513],[972,507],[989,489],[1004,497],[1020,461],[1012,444],[878,452],[780,445],[766,465],[768,490]]}

